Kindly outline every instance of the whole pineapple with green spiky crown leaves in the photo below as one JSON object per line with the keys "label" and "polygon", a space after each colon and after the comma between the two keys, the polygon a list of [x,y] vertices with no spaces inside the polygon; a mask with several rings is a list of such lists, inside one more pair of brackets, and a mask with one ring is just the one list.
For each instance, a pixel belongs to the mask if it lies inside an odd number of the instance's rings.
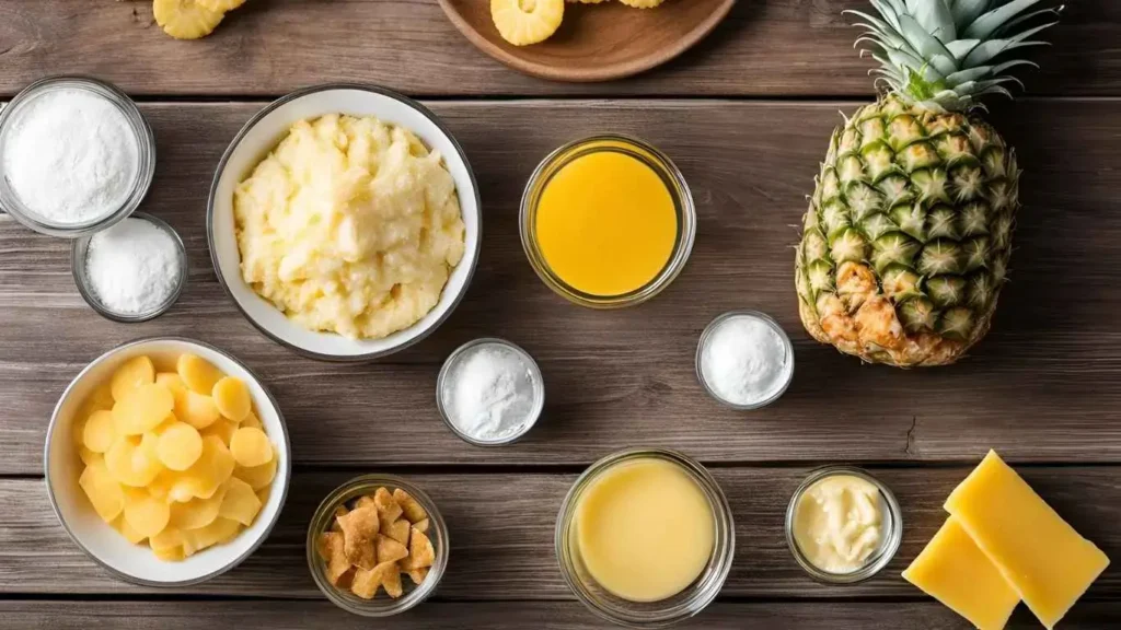
{"label": "whole pineapple with green spiky crown leaves", "polygon": [[[953,363],[989,330],[1019,209],[1016,152],[978,115],[1009,95],[1008,58],[1062,7],[1039,0],[872,0],[887,94],[833,132],[796,256],[819,342],[873,363]],[[1043,22],[1043,24],[1040,24]],[[999,58],[998,58],[999,57]]]}

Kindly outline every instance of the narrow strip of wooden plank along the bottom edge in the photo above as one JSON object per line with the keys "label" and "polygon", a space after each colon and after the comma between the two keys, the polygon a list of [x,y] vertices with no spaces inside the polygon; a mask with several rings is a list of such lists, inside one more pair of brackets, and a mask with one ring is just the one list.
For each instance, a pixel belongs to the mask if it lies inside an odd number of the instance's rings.
{"label": "narrow strip of wooden plank along the bottom edge", "polygon": [[[1121,604],[1084,603],[1063,619],[1063,630],[1102,630],[1121,623]],[[576,602],[428,602],[395,617],[395,630],[609,630]],[[364,630],[370,620],[327,602],[0,602],[0,629],[7,630]],[[721,603],[675,628],[683,630],[967,630],[971,626],[933,602]],[[1039,622],[1020,606],[1008,630],[1035,630]]]}

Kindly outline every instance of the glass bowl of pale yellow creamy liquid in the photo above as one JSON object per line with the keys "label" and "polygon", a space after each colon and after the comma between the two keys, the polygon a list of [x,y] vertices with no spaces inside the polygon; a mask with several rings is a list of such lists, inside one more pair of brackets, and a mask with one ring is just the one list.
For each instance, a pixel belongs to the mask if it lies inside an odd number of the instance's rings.
{"label": "glass bowl of pale yellow creamy liquid", "polygon": [[735,526],[716,481],[675,451],[631,448],[592,464],[560,507],[557,562],[573,594],[602,619],[660,628],[720,593]]}

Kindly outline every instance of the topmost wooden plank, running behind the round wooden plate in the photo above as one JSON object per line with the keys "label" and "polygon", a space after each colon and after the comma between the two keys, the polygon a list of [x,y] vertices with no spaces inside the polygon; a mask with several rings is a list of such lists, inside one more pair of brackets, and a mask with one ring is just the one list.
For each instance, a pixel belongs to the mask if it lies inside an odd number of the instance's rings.
{"label": "topmost wooden plank, running behind the round wooden plate", "polygon": [[[482,0],[480,0],[482,1]],[[671,0],[678,1],[678,0]],[[687,0],[685,0],[687,1]],[[1023,75],[1036,94],[1121,94],[1121,3],[1068,2],[1055,46]],[[135,94],[267,94],[363,81],[418,95],[855,95],[871,64],[841,15],[867,0],[740,0],[683,57],[632,80],[564,85],[474,49],[435,0],[254,0],[200,41],[175,41],[150,2],[0,2],[0,94],[47,73],[91,73]]]}

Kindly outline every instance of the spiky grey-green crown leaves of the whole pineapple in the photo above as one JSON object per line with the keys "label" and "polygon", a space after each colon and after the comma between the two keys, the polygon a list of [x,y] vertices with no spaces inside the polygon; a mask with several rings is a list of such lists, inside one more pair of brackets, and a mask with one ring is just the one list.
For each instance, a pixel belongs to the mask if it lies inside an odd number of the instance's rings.
{"label": "spiky grey-green crown leaves of the whole pineapple", "polygon": [[861,56],[870,54],[880,67],[869,72],[877,85],[938,111],[979,106],[979,98],[1002,94],[1017,66],[1038,67],[1027,59],[998,57],[1029,46],[1031,39],[1058,24],[1063,6],[1036,8],[1041,0],[870,0],[879,17],[847,10],[863,21],[856,39]]}

